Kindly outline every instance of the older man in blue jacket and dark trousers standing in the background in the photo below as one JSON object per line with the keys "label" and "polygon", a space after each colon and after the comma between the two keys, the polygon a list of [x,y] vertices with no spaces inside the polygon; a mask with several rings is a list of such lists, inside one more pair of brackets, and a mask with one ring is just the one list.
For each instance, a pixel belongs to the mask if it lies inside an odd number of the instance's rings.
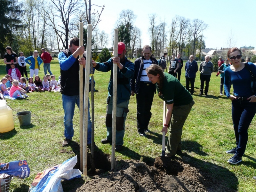
{"label": "older man in blue jacket and dark trousers standing in the background", "polygon": [[189,91],[189,84],[191,84],[190,93],[194,93],[196,72],[198,71],[197,62],[194,60],[194,56],[190,55],[189,60],[185,64],[185,78],[186,78],[186,89]]}

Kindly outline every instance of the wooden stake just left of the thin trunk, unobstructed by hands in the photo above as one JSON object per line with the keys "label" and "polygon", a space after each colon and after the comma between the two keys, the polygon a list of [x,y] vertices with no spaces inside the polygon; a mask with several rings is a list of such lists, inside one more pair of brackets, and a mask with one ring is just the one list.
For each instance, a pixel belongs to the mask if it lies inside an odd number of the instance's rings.
{"label": "wooden stake just left of the thin trunk, unobstructed by hands", "polygon": [[88,24],[87,44],[86,44],[86,65],[84,84],[84,134],[83,134],[83,174],[87,175],[87,126],[88,126],[88,100],[89,100],[89,78],[90,63],[92,54],[92,25]]}

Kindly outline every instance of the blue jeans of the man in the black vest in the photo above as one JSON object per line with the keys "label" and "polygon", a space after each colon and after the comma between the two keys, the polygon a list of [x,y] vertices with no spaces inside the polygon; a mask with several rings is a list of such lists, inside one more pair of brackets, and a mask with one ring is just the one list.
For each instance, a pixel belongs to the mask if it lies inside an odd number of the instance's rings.
{"label": "blue jeans of the man in the black vest", "polygon": [[[75,106],[79,108],[79,95],[68,96],[62,94],[62,106],[64,109],[64,136],[66,139],[72,140],[74,136],[73,117]],[[88,100],[88,109],[90,109],[90,101]],[[92,122],[90,110],[88,110],[88,125],[87,125],[87,144],[92,143]]]}

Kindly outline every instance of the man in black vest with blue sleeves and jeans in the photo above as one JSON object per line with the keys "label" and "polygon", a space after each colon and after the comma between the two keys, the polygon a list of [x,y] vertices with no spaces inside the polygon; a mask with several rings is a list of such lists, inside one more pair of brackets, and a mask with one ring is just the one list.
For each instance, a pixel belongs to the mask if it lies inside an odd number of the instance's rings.
{"label": "man in black vest with blue sleeves and jeans", "polygon": [[[72,140],[72,137],[74,136],[73,117],[75,106],[77,105],[79,108],[79,64],[83,65],[85,68],[85,55],[83,58],[79,59],[79,55],[82,54],[84,54],[84,46],[79,47],[79,38],[74,37],[69,42],[69,48],[61,51],[58,55],[60,63],[60,86],[62,94],[62,106],[64,109],[65,127],[65,140],[62,142],[63,147],[68,146]],[[88,104],[88,108],[90,108],[90,103]],[[92,143],[92,122],[90,110],[88,110],[87,121],[87,146],[90,148]],[[94,145],[94,148],[98,147]]]}

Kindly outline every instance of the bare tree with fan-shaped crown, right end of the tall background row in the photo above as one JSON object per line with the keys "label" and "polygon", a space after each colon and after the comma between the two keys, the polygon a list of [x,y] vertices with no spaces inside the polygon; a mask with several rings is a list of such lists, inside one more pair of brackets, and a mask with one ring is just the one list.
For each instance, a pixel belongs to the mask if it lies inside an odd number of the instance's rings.
{"label": "bare tree with fan-shaped crown, right end of the tall background row", "polygon": [[201,32],[206,29],[208,25],[203,20],[194,19],[191,23],[191,32],[193,35],[193,55],[195,55],[196,41],[200,37]]}

